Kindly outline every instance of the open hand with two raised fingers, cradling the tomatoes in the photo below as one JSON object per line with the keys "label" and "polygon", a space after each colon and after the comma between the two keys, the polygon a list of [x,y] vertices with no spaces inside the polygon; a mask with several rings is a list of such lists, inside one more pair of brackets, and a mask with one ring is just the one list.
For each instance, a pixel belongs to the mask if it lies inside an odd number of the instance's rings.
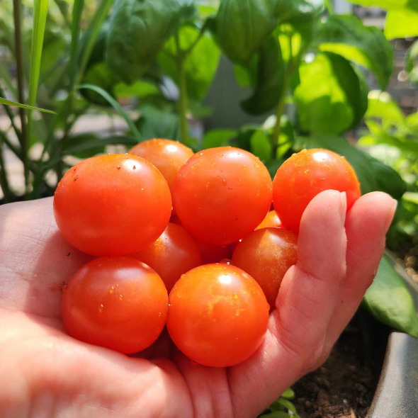
{"label": "open hand with two raised fingers, cradling the tomatoes", "polygon": [[255,417],[327,358],[373,280],[394,211],[384,193],[349,213],[344,194],[316,196],[261,347],[237,366],[207,368],[166,334],[147,359],[69,337],[60,286],[91,257],[60,237],[52,199],[1,206],[0,416]]}

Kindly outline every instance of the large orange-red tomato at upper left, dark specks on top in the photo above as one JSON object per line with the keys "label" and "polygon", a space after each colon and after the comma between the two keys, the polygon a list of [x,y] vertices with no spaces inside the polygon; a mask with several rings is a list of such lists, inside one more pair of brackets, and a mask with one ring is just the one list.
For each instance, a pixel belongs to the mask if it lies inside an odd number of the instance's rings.
{"label": "large orange-red tomato at upper left, dark specks on top", "polygon": [[64,174],[54,197],[60,232],[95,256],[139,251],[164,231],[169,186],[145,159],[129,154],[85,159]]}

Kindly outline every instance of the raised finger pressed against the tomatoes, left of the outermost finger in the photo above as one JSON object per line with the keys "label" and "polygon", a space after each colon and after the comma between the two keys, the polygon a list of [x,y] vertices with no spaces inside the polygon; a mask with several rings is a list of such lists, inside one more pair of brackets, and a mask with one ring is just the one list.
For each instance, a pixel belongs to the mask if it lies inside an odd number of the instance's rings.
{"label": "raised finger pressed against the tomatoes, left of the outermost finger", "polygon": [[264,344],[230,368],[232,402],[242,413],[237,416],[255,416],[322,354],[346,271],[345,216],[346,198],[337,191],[324,191],[307,206],[298,263],[283,278]]}

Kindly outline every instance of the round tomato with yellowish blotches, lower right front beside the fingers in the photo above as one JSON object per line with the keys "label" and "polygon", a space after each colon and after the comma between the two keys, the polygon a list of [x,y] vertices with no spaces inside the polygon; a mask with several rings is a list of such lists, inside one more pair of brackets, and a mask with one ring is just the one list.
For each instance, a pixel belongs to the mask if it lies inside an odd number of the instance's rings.
{"label": "round tomato with yellowish blotches, lower right front beside the fingers", "polygon": [[247,273],[228,264],[188,271],[169,295],[167,329],[174,344],[204,366],[226,367],[254,354],[269,321],[269,304]]}

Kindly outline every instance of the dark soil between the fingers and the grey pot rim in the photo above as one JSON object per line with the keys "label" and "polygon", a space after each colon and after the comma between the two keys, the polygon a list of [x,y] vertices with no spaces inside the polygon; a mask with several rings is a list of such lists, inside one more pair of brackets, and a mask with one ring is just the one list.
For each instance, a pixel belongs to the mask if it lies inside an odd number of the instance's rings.
{"label": "dark soil between the fingers and the grey pot rim", "polygon": [[366,417],[387,341],[388,329],[360,310],[326,363],[292,386],[296,395],[292,402],[300,417]]}

